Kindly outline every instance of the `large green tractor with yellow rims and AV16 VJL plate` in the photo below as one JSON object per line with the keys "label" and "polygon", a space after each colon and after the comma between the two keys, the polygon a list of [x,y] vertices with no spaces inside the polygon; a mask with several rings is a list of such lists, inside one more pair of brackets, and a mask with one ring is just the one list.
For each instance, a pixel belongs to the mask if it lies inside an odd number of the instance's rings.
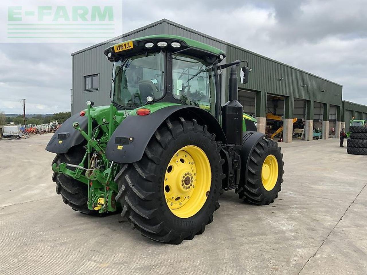
{"label": "large green tractor with yellow rims and AV16 VJL plate", "polygon": [[178,244],[204,232],[223,190],[274,202],[283,154],[237,101],[237,71],[247,83],[248,65],[219,65],[221,50],[170,35],[119,43],[105,55],[113,62],[112,103],[88,101],[46,147],[57,154],[52,179],[64,203],[96,216],[119,212],[142,235]]}

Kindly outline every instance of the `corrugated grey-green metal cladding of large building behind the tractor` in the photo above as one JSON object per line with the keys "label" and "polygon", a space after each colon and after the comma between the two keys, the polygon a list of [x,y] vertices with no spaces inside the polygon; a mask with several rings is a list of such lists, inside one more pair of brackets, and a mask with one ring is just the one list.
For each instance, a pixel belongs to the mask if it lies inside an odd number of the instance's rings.
{"label": "corrugated grey-green metal cladding of large building behind the tractor", "polygon": [[[222,63],[236,59],[248,60],[252,69],[249,83],[239,84],[239,88],[252,91],[261,91],[269,94],[293,96],[300,99],[315,100],[317,102],[341,106],[342,86],[323,78],[313,76],[296,68],[271,60],[264,56],[252,53],[235,45],[226,43],[217,38],[189,29],[188,27],[162,19],[133,32],[116,37],[107,43],[100,43],[93,47],[72,54],[73,56],[73,97],[72,114],[85,108],[87,100],[93,100],[95,106],[110,103],[112,64],[108,62],[103,51],[110,45],[136,37],[153,34],[175,34],[188,37],[226,52],[227,57]],[[84,76],[99,74],[99,90],[84,91]],[[222,102],[226,101],[229,69],[223,70],[222,75]],[[284,80],[279,81],[283,77]],[[306,87],[302,85],[307,84]],[[325,92],[321,92],[325,90]]]}

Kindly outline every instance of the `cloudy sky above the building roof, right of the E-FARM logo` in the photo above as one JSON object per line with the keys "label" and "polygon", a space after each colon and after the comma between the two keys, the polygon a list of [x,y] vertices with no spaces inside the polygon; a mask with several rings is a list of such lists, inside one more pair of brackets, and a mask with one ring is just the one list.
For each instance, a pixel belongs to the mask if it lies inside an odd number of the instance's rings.
{"label": "cloudy sky above the building roof, right of the E-FARM logo", "polygon": [[[124,27],[161,18],[188,26],[343,85],[343,99],[367,105],[367,5],[365,0],[212,0],[171,2],[169,10],[135,1]],[[141,19],[140,19],[141,20]],[[141,25],[139,25],[141,26]]]}

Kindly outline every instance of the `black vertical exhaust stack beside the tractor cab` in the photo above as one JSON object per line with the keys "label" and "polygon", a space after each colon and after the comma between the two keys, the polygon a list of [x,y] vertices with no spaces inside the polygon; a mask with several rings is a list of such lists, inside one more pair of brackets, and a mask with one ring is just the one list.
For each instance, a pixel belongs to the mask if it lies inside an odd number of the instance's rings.
{"label": "black vertical exhaust stack beside the tractor cab", "polygon": [[[238,60],[240,61],[240,60]],[[227,143],[242,145],[243,106],[238,102],[237,65],[232,65],[229,77],[229,101],[222,107],[222,128]]]}

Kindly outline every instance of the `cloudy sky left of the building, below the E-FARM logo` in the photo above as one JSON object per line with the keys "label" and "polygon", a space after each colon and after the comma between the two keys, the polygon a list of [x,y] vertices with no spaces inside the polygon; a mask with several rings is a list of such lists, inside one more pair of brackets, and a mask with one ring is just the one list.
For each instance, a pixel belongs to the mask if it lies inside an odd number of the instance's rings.
{"label": "cloudy sky left of the building, below the E-FARM logo", "polygon": [[72,59],[70,53],[88,44],[0,44],[0,110],[22,113],[58,113],[70,110]]}

